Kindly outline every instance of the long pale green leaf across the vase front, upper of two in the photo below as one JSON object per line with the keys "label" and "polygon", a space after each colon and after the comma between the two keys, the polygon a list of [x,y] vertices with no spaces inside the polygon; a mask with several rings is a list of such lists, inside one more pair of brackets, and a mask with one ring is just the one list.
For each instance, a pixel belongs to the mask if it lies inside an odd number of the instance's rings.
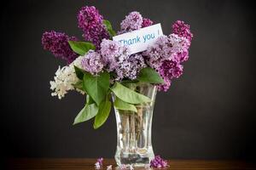
{"label": "long pale green leaf across the vase front, upper of two", "polygon": [[138,94],[130,88],[126,88],[119,82],[115,82],[111,90],[113,91],[113,94],[115,94],[119,99],[122,99],[127,103],[141,104],[151,101],[151,99],[149,99],[147,96],[143,94]]}

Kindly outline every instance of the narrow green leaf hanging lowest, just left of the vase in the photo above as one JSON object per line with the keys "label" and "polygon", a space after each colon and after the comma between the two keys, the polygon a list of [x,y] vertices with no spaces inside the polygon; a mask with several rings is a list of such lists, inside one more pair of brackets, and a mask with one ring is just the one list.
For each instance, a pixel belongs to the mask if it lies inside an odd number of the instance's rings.
{"label": "narrow green leaf hanging lowest, just left of the vase", "polygon": [[103,100],[101,105],[99,106],[99,111],[94,119],[93,127],[96,129],[101,127],[104,122],[107,121],[109,112],[111,110],[111,102],[108,100]]}

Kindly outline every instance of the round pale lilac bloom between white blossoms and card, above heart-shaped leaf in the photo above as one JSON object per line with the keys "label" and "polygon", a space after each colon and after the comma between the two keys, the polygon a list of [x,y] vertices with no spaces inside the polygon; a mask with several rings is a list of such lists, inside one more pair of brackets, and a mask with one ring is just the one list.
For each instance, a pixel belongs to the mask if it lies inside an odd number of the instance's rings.
{"label": "round pale lilac bloom between white blossoms and card, above heart-shaped leaf", "polygon": [[84,71],[88,71],[91,74],[96,75],[101,72],[104,67],[102,55],[93,50],[89,50],[89,52],[84,55],[81,65]]}

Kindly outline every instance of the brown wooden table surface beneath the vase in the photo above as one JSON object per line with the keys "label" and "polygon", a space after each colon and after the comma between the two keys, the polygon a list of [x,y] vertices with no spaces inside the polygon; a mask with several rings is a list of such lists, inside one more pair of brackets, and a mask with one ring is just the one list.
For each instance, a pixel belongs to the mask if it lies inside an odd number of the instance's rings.
{"label": "brown wooden table surface beneath the vase", "polygon": [[[7,161],[7,169],[73,169],[73,170],[86,170],[91,169],[94,170],[94,163],[96,159],[76,159],[76,158],[38,158],[38,159],[10,159]],[[189,169],[197,169],[197,170],[224,170],[224,169],[256,169],[256,165],[254,163],[249,163],[246,161],[203,161],[203,160],[169,160],[168,161],[170,167],[166,169],[170,170],[189,170]],[[102,169],[107,169],[108,165],[113,165],[113,169],[119,169],[115,166],[115,161],[113,159],[104,159],[103,161],[104,167]],[[135,169],[144,169],[144,168],[135,168]]]}

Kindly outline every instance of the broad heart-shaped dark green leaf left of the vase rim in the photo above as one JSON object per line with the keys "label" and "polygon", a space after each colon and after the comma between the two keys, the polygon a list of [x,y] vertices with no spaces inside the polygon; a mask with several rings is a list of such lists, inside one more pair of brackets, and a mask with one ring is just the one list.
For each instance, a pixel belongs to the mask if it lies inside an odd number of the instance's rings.
{"label": "broad heart-shaped dark green leaf left of the vase rim", "polygon": [[109,73],[102,72],[98,76],[93,76],[88,72],[84,72],[83,87],[87,94],[100,105],[103,99],[106,98],[109,88]]}

